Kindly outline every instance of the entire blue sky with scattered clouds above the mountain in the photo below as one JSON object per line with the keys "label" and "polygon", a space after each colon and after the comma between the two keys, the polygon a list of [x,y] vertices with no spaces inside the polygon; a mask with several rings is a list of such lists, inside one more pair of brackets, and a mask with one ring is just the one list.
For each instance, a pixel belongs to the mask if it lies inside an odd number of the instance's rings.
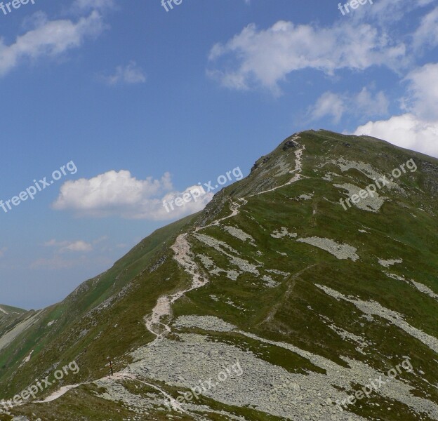
{"label": "entire blue sky with scattered clouds above the mountain", "polygon": [[[0,10],[0,199],[11,207],[0,208],[0,303],[62,300],[297,131],[366,133],[438,156],[437,1],[352,6]],[[210,180],[219,187],[208,192]],[[11,201],[31,186],[33,200]],[[163,201],[183,194],[166,212]]]}

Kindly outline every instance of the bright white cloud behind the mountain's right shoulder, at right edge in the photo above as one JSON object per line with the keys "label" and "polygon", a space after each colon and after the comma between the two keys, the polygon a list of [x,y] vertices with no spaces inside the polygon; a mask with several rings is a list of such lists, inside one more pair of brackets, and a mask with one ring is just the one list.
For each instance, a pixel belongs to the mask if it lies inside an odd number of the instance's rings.
{"label": "bright white cloud behind the mountain's right shoulder, at right edge", "polygon": [[369,121],[354,134],[365,133],[438,157],[438,63],[414,70],[405,80],[409,81],[408,93],[403,99],[406,114]]}

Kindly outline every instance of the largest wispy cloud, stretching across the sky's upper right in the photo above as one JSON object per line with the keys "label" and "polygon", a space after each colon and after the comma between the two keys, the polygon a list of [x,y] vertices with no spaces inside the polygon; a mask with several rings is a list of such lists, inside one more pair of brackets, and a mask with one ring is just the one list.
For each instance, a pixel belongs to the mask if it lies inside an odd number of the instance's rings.
{"label": "largest wispy cloud, stretching across the sky's upper right", "polygon": [[211,48],[207,74],[227,88],[261,87],[278,95],[279,83],[301,69],[332,75],[378,65],[399,72],[422,47],[438,45],[438,8],[427,11],[409,36],[400,36],[398,27],[407,13],[434,1],[374,1],[351,11],[348,18],[339,13],[338,21],[326,27],[284,20],[267,29],[251,24]]}

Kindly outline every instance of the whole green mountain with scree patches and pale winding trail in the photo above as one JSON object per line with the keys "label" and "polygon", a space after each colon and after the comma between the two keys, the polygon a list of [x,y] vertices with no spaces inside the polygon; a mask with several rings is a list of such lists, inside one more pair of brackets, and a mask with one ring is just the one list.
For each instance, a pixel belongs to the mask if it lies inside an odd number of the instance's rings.
{"label": "whole green mountain with scree patches and pale winding trail", "polygon": [[438,420],[437,205],[437,159],[296,133],[64,301],[0,314],[0,399],[34,392],[0,420]]}

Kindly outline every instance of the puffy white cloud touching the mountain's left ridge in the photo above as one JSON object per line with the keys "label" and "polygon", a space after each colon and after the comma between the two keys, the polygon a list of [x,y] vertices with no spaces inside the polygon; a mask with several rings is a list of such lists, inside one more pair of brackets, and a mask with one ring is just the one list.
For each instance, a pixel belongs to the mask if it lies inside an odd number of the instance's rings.
{"label": "puffy white cloud touching the mountain's left ridge", "polygon": [[180,207],[173,205],[174,210],[169,207],[169,212],[166,211],[164,201],[183,196],[192,189],[199,186],[187,187],[184,192],[173,191],[169,173],[160,180],[151,177],[137,180],[126,170],[107,171],[90,179],[65,182],[53,208],[73,210],[80,216],[168,220],[201,210],[213,196],[203,194],[197,201],[191,200]]}

